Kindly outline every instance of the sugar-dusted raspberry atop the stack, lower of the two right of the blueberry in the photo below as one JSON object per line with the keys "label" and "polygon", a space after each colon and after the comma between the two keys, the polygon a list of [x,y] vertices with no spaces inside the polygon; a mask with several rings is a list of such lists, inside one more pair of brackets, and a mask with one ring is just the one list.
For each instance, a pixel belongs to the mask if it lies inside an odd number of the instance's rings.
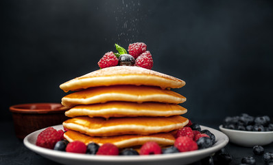
{"label": "sugar-dusted raspberry atop the stack, lower of the two right of the blueberry", "polygon": [[141,54],[135,61],[135,65],[137,67],[144,67],[146,69],[152,69],[154,62],[152,60],[152,55],[149,51],[144,52]]}

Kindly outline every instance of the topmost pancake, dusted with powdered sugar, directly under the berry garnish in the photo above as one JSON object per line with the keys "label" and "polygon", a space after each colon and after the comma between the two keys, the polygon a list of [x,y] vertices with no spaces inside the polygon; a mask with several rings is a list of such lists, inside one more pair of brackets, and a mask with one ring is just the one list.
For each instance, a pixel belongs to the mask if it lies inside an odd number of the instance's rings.
{"label": "topmost pancake, dusted with powdered sugar, directly under the berry garnish", "polygon": [[151,85],[165,89],[183,87],[185,81],[143,67],[116,66],[69,80],[60,85],[60,89],[67,92],[110,85]]}

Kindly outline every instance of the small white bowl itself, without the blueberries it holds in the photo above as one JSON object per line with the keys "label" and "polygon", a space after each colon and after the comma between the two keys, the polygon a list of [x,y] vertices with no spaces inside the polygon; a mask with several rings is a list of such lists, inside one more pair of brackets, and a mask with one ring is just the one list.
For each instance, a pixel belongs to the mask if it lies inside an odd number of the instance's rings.
{"label": "small white bowl itself, without the blueberries it holds", "polygon": [[264,146],[273,142],[273,131],[254,132],[225,129],[223,125],[219,129],[228,135],[230,142],[239,146],[253,147],[256,145]]}

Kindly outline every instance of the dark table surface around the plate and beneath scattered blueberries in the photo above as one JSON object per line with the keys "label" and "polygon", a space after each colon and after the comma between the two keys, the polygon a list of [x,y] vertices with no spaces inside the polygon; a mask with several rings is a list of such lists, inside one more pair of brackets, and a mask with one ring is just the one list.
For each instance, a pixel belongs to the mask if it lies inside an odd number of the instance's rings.
{"label": "dark table surface around the plate and beneath scattered blueberries", "polygon": [[[201,122],[200,124],[209,126],[213,129],[218,129],[218,122]],[[0,164],[13,165],[13,164],[52,164],[52,162],[26,148],[21,140],[18,140],[14,133],[12,121],[0,122],[1,136],[0,136]],[[219,130],[219,129],[218,129]],[[233,157],[232,162],[229,164],[240,164],[241,159],[245,156],[253,156],[256,159],[256,164],[264,164],[263,157],[254,155],[252,148],[241,147],[235,144],[228,143],[225,147],[226,151]],[[273,143],[264,146],[265,152],[273,152]],[[192,165],[201,164],[200,161]]]}

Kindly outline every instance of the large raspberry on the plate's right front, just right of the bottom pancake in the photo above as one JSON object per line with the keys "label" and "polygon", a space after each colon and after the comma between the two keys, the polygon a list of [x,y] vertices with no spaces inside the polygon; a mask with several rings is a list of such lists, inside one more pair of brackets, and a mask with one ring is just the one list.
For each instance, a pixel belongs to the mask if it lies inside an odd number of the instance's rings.
{"label": "large raspberry on the plate's right front, just right of the bottom pancake", "polygon": [[181,136],[176,139],[174,146],[178,148],[180,152],[195,151],[198,149],[198,145],[190,137]]}

